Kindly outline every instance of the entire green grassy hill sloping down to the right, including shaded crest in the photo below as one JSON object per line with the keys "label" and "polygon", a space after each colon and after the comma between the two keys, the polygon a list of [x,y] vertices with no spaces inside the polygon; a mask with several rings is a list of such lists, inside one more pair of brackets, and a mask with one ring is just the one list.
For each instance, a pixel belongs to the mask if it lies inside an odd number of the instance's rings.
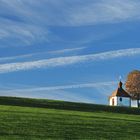
{"label": "entire green grassy hill sloping down to the right, including shaded crest", "polygon": [[0,97],[0,140],[139,140],[140,109]]}

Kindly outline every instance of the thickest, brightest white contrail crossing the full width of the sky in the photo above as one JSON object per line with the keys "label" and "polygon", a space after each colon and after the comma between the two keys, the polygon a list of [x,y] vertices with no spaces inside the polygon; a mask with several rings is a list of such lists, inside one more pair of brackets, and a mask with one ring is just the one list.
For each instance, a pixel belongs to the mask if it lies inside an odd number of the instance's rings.
{"label": "thickest, brightest white contrail crossing the full width of the sky", "polygon": [[114,59],[114,58],[119,58],[124,56],[129,57],[129,56],[134,56],[139,54],[140,54],[140,48],[131,48],[131,49],[116,50],[116,51],[108,51],[108,52],[103,52],[98,54],[57,57],[57,58],[42,59],[42,60],[29,61],[29,62],[7,63],[7,64],[0,64],[0,73],[30,70],[36,68],[50,68],[50,67],[57,67],[57,66],[65,66],[65,65],[76,64],[76,63]]}

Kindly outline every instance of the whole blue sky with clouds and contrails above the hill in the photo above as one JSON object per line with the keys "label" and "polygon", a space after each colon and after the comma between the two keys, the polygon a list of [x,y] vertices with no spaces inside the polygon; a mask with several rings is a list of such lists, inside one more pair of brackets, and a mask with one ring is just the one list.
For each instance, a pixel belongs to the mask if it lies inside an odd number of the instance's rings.
{"label": "whole blue sky with clouds and contrails above the hill", "polygon": [[0,0],[1,96],[108,104],[139,62],[139,0]]}

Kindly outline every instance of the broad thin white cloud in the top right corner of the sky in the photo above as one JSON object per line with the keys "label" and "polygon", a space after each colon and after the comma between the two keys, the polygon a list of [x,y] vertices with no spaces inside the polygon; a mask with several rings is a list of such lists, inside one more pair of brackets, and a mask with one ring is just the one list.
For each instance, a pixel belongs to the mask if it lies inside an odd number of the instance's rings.
{"label": "broad thin white cloud in the top right corner of the sky", "polygon": [[99,0],[75,7],[69,14],[71,25],[94,25],[140,19],[138,0]]}

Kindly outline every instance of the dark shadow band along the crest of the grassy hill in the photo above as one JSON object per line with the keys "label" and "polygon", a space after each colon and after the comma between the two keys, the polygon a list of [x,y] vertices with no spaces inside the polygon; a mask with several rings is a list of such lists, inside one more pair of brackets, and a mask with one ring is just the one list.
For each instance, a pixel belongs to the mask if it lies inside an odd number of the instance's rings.
{"label": "dark shadow band along the crest of the grassy hill", "polygon": [[38,107],[38,108],[50,108],[61,110],[73,110],[84,112],[113,112],[123,114],[135,114],[140,115],[139,108],[129,107],[111,107],[106,105],[95,105],[86,103],[74,103],[55,100],[44,99],[29,99],[29,98],[17,98],[17,97],[0,97],[0,105],[22,106],[22,107]]}

